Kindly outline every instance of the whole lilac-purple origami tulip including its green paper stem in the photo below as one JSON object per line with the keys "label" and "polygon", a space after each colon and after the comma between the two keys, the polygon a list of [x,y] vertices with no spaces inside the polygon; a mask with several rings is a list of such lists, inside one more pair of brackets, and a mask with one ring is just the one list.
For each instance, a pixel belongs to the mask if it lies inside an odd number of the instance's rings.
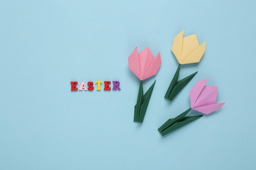
{"label": "whole lilac-purple origami tulip including its green paper stem", "polygon": [[203,116],[198,115],[185,117],[191,109],[208,115],[209,113],[220,109],[225,104],[225,102],[216,104],[218,87],[205,86],[207,80],[208,79],[203,79],[198,81],[189,92],[191,108],[173,119],[168,119],[160,128],[158,128],[158,131],[162,136],[167,135],[168,133]]}

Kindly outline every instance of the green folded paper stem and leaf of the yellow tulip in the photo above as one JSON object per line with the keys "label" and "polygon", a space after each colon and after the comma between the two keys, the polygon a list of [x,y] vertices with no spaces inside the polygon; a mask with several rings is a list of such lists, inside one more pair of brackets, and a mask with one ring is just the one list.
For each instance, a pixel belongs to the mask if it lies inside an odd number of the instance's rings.
{"label": "green folded paper stem and leaf of the yellow tulip", "polygon": [[179,78],[179,73],[180,73],[180,65],[177,68],[177,71],[175,72],[175,75],[173,76],[173,79],[171,81],[170,86],[168,87],[166,94],[164,96],[164,98],[172,101],[174,99],[174,97],[180,93],[180,91],[182,90],[182,88],[184,88],[186,86],[186,84],[189,83],[189,81],[196,75],[195,72],[187,77],[185,77],[184,79],[181,79],[180,81],[178,81]]}

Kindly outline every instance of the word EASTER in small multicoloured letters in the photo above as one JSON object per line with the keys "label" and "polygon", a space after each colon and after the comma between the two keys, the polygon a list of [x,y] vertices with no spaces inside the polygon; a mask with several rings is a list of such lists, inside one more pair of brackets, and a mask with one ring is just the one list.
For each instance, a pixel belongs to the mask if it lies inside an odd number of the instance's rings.
{"label": "word EASTER in small multicoloured letters", "polygon": [[[88,88],[86,88],[85,83],[83,81],[81,82],[81,85],[80,85],[79,88],[76,87],[76,85],[78,84],[77,82],[70,82],[70,84],[71,84],[71,91],[77,91],[77,90],[79,90],[79,91],[82,91],[82,90],[93,91],[93,89],[94,89],[93,82],[88,82],[87,83]],[[101,90],[101,84],[103,84],[102,81],[95,81],[95,85],[97,85],[97,89],[96,89],[97,91]],[[111,90],[110,84],[111,84],[110,81],[104,81],[104,91],[110,91]],[[112,90],[121,90],[121,88],[119,86],[120,86],[119,81],[113,81]]]}

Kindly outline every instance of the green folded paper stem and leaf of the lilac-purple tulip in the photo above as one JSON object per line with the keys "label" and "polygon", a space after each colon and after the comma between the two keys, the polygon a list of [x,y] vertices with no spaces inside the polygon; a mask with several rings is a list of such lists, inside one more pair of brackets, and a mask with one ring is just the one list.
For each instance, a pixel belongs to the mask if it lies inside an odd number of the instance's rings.
{"label": "green folded paper stem and leaf of the lilac-purple tulip", "polygon": [[191,108],[183,112],[182,114],[178,115],[177,117],[173,119],[168,119],[160,128],[158,128],[158,131],[161,133],[162,136],[167,135],[168,133],[181,128],[182,126],[185,126],[186,124],[189,124],[190,122],[199,119],[203,115],[198,116],[188,116],[185,117],[189,112]]}

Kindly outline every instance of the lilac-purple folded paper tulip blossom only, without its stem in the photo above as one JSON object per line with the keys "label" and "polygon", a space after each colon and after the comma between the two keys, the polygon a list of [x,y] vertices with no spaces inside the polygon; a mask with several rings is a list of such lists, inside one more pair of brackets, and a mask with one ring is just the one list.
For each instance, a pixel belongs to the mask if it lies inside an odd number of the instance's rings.
{"label": "lilac-purple folded paper tulip blossom only, without its stem", "polygon": [[216,104],[218,87],[205,86],[207,80],[198,81],[189,94],[191,108],[208,115],[220,109],[225,102]]}

